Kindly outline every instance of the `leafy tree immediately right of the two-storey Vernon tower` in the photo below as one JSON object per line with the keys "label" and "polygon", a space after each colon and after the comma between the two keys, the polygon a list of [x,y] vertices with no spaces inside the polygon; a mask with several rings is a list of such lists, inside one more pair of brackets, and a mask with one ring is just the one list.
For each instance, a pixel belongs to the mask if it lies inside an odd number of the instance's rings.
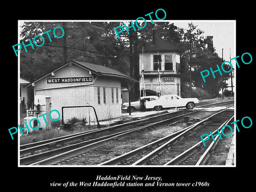
{"label": "leafy tree immediately right of the two-storey Vernon tower", "polygon": [[[189,84],[190,97],[192,96],[192,87],[199,87],[217,97],[221,87],[227,87],[224,83],[229,74],[222,76],[215,73],[215,78],[207,78],[206,83],[203,82],[200,74],[203,70],[217,69],[217,65],[221,66],[222,60],[215,53],[213,46],[210,46],[209,38],[203,36],[204,31],[198,29],[193,23],[188,24],[188,29],[180,29],[182,34],[183,54],[181,55],[181,71],[182,83]],[[206,46],[207,44],[207,46]],[[212,44],[211,44],[212,45]]]}

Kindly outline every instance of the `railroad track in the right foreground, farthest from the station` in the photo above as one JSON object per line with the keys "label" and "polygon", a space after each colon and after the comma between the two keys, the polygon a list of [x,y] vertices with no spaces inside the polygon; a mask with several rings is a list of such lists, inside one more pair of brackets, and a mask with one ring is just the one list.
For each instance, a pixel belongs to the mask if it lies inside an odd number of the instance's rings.
{"label": "railroad track in the right foreground, farthest from the station", "polygon": [[[228,116],[230,116],[230,113],[227,112],[228,109],[229,108],[221,110],[179,132],[167,135],[165,138],[148,143],[145,146],[110,159],[100,165],[175,165],[193,153],[194,156],[199,158],[201,156],[206,156],[211,148],[209,148],[208,152],[204,155],[201,155],[202,151],[205,151],[208,146],[212,147],[214,144],[206,142],[206,147],[201,147],[202,141],[200,141],[200,135],[209,133],[209,127],[210,131],[213,132],[216,131],[217,127],[221,129],[224,124],[229,123],[231,118],[225,123],[223,123],[223,121],[213,120],[214,118],[216,119],[216,117],[220,119],[220,114],[222,120],[229,118]],[[199,151],[198,147],[201,147],[200,149],[203,150]],[[188,164],[188,162],[191,163],[191,156],[189,161],[188,159],[189,158],[185,159],[183,164]],[[203,160],[205,160],[205,158]]]}

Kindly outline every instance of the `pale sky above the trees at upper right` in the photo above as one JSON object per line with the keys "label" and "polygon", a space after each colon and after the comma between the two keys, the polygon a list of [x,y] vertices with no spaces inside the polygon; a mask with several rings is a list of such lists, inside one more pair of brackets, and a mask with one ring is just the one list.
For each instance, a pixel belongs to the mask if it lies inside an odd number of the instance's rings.
{"label": "pale sky above the trees at upper right", "polygon": [[169,20],[175,26],[179,28],[188,29],[188,23],[193,22],[198,29],[204,31],[204,36],[213,36],[213,47],[215,47],[216,53],[219,57],[222,57],[223,48],[223,60],[229,61],[230,53],[231,58],[236,57],[236,22],[235,20]]}

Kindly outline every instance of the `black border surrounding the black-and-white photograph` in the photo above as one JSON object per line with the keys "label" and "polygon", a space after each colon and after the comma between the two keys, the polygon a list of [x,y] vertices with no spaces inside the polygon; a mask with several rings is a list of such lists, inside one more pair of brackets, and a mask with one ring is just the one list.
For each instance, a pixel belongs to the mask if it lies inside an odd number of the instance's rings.
{"label": "black border surrounding the black-and-white photograph", "polygon": [[[162,2],[165,4],[164,2]],[[171,2],[169,2],[171,3]],[[243,2],[231,5],[222,5],[217,2],[177,2],[177,4],[157,4],[145,7],[130,2],[118,3],[112,2],[117,6],[110,5],[92,5],[87,3],[63,2],[53,6],[42,3],[36,5],[26,4],[11,6],[11,18],[5,19],[2,15],[3,26],[1,33],[4,38],[4,62],[2,67],[2,138],[4,139],[4,152],[2,163],[2,174],[4,175],[3,184],[6,187],[17,190],[35,191],[57,188],[51,188],[50,182],[67,182],[67,181],[94,181],[97,175],[156,175],[163,178],[164,182],[195,182],[207,181],[210,187],[196,188],[202,190],[211,189],[238,189],[244,187],[250,189],[253,187],[253,175],[251,171],[254,167],[253,147],[255,133],[255,115],[252,112],[254,107],[254,22],[252,3]],[[81,5],[80,5],[81,4]],[[147,4],[150,4],[149,2]],[[37,7],[37,9],[36,9]],[[101,8],[100,8],[101,7]],[[166,11],[166,20],[236,20],[236,55],[242,55],[244,52],[251,53],[253,57],[250,65],[240,65],[236,73],[236,118],[242,119],[244,116],[250,116],[253,120],[253,126],[250,129],[240,129],[237,132],[237,167],[18,167],[18,139],[14,137],[11,140],[7,131],[10,127],[18,125],[18,58],[13,53],[12,45],[18,42],[18,20],[23,19],[77,19],[77,20],[94,20],[94,19],[137,19],[149,12],[162,8]],[[34,11],[33,11],[34,10]],[[3,14],[2,12],[1,14]],[[6,38],[7,37],[7,38]],[[7,54],[6,54],[7,53]],[[241,62],[241,60],[238,60]],[[3,70],[2,70],[3,71]],[[4,187],[3,186],[3,187]],[[6,188],[5,188],[6,189]],[[78,190],[91,191],[97,188],[60,188],[61,190]],[[105,190],[106,188],[99,188]],[[109,190],[112,188],[108,188]],[[120,188],[116,188],[120,190]],[[130,188],[133,190],[135,188]],[[159,188],[161,190],[189,190],[191,188]]]}

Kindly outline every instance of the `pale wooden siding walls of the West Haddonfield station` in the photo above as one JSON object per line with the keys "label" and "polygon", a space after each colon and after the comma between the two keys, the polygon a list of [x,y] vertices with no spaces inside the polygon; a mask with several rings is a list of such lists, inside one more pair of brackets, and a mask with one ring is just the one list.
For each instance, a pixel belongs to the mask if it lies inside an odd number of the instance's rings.
{"label": "pale wooden siding walls of the West Haddonfield station", "polygon": [[[47,84],[47,78],[93,76],[93,82],[79,83],[52,83]],[[100,97],[98,88],[100,87]],[[106,103],[103,102],[103,87],[106,90]],[[114,88],[114,103],[111,98],[111,88]],[[116,95],[116,89],[118,95]],[[121,81],[117,78],[100,77],[90,74],[88,70],[76,65],[65,66],[55,71],[54,76],[46,76],[35,83],[35,95],[51,97],[51,109],[61,113],[62,106],[92,105],[97,111],[98,119],[109,119],[121,116]],[[116,97],[117,96],[117,97]],[[100,99],[100,105],[98,104]],[[118,99],[118,102],[116,102]],[[64,121],[73,117],[86,119],[86,122],[96,121],[92,108],[66,108],[63,110]],[[52,113],[53,118],[58,118],[57,113]],[[62,118],[62,117],[61,117]]]}

